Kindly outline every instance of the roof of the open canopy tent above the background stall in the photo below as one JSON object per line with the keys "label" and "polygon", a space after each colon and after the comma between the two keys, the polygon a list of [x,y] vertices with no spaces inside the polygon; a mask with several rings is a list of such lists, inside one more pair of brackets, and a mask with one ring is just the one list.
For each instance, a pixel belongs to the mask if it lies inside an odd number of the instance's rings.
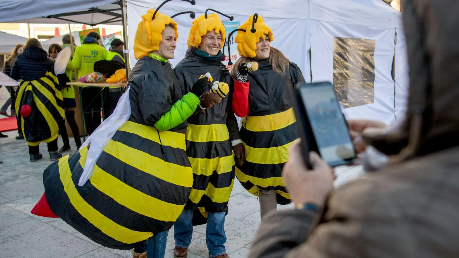
{"label": "roof of the open canopy tent above the background stall", "polygon": [[121,17],[118,0],[0,1],[0,22],[121,25]]}

